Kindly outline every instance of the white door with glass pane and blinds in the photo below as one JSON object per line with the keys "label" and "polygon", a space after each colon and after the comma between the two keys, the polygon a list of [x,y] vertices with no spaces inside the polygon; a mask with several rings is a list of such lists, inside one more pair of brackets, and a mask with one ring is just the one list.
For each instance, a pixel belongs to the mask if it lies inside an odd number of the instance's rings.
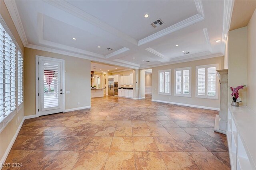
{"label": "white door with glass pane and blinds", "polygon": [[38,115],[63,112],[64,60],[38,56]]}

